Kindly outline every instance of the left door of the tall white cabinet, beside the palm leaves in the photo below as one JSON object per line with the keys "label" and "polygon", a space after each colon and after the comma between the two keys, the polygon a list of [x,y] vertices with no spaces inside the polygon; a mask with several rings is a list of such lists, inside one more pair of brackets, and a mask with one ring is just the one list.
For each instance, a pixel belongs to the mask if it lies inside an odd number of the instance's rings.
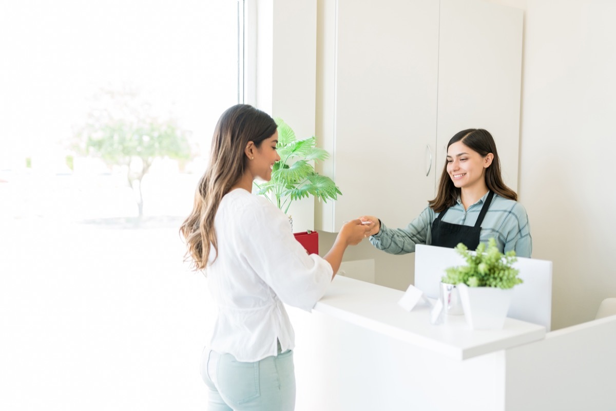
{"label": "left door of the tall white cabinet, beside the palm leaves", "polygon": [[375,215],[405,226],[434,197],[439,2],[318,5],[320,171],[342,195],[317,203],[317,229]]}

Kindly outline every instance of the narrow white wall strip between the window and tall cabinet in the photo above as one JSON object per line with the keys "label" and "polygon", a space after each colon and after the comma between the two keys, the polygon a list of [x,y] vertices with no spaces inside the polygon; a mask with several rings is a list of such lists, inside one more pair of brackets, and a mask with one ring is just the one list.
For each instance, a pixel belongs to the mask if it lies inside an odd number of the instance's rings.
{"label": "narrow white wall strip between the window and tall cabinet", "polygon": [[[256,106],[280,117],[298,139],[315,134],[316,0],[257,0]],[[314,230],[314,201],[289,209],[295,232]]]}

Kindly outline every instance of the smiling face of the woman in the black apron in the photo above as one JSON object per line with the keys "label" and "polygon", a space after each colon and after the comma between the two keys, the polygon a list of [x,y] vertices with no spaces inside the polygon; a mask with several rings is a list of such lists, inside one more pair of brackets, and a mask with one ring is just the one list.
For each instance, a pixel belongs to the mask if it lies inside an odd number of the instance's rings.
{"label": "smiling face of the woman in the black apron", "polygon": [[459,189],[484,187],[485,169],[492,164],[492,153],[481,157],[461,141],[447,149],[447,173]]}

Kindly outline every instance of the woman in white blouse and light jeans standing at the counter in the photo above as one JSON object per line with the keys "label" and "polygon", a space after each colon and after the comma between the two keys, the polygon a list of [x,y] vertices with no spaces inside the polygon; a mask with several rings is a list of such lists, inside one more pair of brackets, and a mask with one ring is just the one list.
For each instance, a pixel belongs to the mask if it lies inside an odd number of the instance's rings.
{"label": "woman in white blouse and light jeans standing at the counter", "polygon": [[295,341],[283,303],[312,309],[347,246],[367,236],[355,219],[323,258],[306,253],[286,215],[251,193],[254,179],[272,177],[277,142],[266,113],[245,104],[226,110],[193,211],[180,227],[187,257],[208,277],[218,307],[201,357],[209,410],[293,410]]}

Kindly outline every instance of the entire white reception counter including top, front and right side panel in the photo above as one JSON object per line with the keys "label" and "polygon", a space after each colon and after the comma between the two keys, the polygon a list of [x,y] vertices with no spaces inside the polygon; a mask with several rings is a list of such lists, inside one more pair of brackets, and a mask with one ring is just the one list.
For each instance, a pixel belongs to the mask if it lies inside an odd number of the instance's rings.
{"label": "entire white reception counter including top, front and right side panel", "polygon": [[432,325],[429,308],[407,312],[402,295],[336,276],[311,313],[288,307],[296,410],[616,409],[616,316],[551,333],[514,319],[479,331],[463,315]]}

